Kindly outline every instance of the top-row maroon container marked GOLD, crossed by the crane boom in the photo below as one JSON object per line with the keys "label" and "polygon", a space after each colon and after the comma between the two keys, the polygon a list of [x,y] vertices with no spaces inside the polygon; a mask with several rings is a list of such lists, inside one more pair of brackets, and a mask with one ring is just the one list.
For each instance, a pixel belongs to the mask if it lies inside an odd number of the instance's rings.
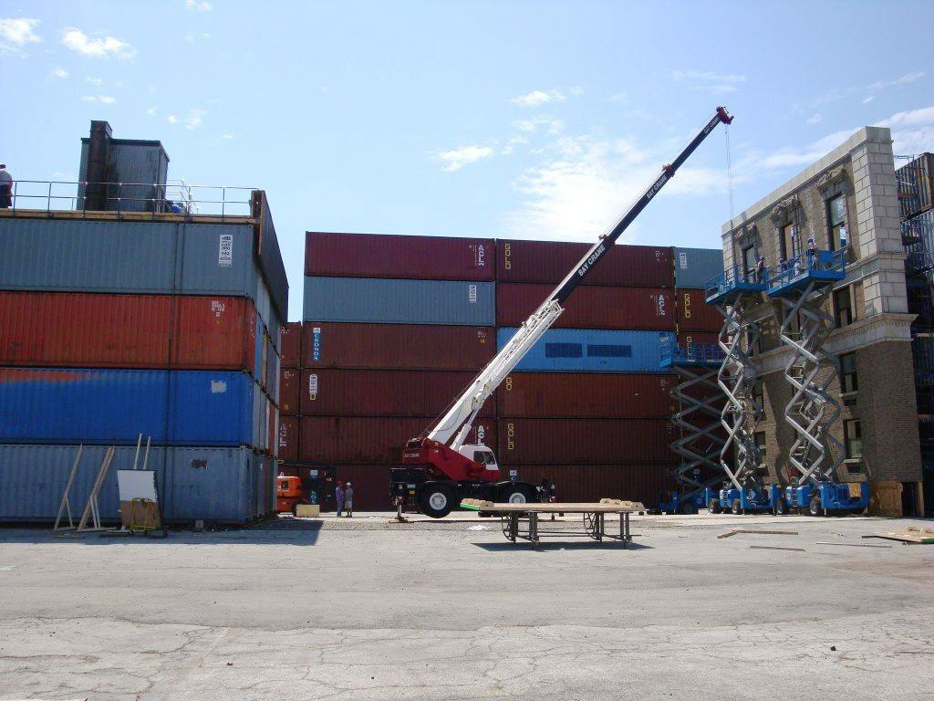
{"label": "top-row maroon container marked GOLD, crossed by the crane boom", "polygon": [[[497,241],[497,279],[556,285],[570,273],[592,244],[557,241]],[[672,249],[658,246],[611,246],[587,275],[587,285],[673,287]]]}

